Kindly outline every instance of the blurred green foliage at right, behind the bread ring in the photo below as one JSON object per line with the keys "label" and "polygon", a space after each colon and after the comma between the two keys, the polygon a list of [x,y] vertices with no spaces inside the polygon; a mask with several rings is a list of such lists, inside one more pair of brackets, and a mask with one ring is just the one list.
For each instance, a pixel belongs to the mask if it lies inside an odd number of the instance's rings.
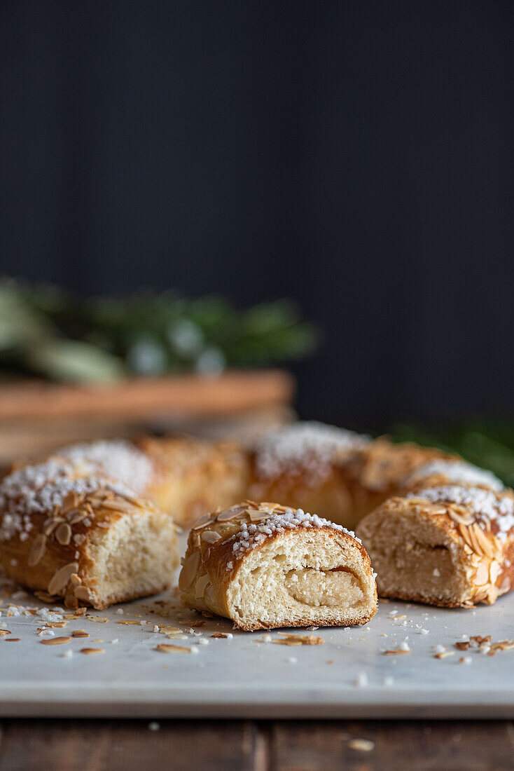
{"label": "blurred green foliage at right, behind the bread ring", "polygon": [[398,442],[416,442],[459,453],[514,487],[514,419],[465,419],[430,429],[414,423],[397,423],[388,436]]}

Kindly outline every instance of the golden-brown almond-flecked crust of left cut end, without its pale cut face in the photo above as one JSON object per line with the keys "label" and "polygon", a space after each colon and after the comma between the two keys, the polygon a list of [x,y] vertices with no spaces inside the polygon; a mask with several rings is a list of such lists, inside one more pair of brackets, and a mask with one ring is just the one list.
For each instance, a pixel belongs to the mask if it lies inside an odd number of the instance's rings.
{"label": "golden-brown almond-flecked crust of left cut end, without its pale cut face", "polygon": [[[44,467],[42,467],[44,468]],[[30,471],[30,467],[26,467]],[[46,490],[60,503],[47,510],[32,510],[30,497],[9,497],[4,490],[4,507],[0,511],[0,567],[8,577],[27,588],[48,593],[52,598],[64,598],[66,607],[77,608],[89,604],[93,608],[103,609],[113,602],[128,601],[137,596],[156,593],[170,584],[173,562],[178,561],[176,553],[170,554],[170,580],[154,582],[152,591],[134,591],[127,584],[126,591],[115,591],[106,596],[105,588],[99,586],[97,574],[96,547],[102,539],[116,528],[120,520],[136,520],[138,517],[152,519],[152,527],[163,527],[166,537],[171,534],[173,542],[173,523],[169,517],[160,513],[152,503],[146,503],[132,493],[119,490],[119,486],[105,477],[83,477],[78,470],[59,465],[52,461],[51,470],[59,469],[69,473],[64,482],[67,486],[76,484],[77,490],[61,493],[59,480],[38,481],[28,491],[35,493]],[[80,490],[85,482],[94,482],[96,487]],[[7,479],[8,482],[8,479]],[[22,483],[27,485],[27,480]],[[2,488],[0,487],[0,494]],[[46,500],[42,494],[41,500]],[[39,504],[38,504],[39,505]],[[32,507],[32,508],[31,508]],[[41,506],[39,506],[41,508]],[[171,530],[170,530],[171,528]]]}

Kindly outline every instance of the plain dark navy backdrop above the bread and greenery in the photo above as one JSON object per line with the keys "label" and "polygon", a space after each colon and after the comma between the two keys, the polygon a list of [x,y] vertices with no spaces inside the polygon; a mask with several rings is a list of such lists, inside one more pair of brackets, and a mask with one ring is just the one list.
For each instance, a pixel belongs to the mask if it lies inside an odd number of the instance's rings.
{"label": "plain dark navy backdrop above the bread and greenery", "polygon": [[2,2],[0,272],[287,295],[299,408],[514,406],[512,2]]}

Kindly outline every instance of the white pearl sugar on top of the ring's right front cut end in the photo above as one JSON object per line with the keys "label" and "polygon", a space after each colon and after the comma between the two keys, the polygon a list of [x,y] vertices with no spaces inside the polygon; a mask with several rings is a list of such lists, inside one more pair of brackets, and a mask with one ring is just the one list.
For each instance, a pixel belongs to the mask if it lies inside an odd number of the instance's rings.
{"label": "white pearl sugar on top of the ring's right front cut end", "polygon": [[429,487],[418,493],[409,493],[408,498],[423,498],[430,503],[457,503],[469,511],[477,520],[495,522],[499,540],[505,541],[509,530],[514,527],[514,499],[509,495],[496,495],[480,487],[458,487],[447,485]]}

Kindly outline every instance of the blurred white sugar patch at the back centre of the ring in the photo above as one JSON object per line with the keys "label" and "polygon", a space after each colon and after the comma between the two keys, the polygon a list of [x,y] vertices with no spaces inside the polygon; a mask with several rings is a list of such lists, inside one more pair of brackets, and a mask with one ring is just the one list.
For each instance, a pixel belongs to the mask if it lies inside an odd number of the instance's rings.
{"label": "blurred white sugar patch at the back centre of the ring", "polygon": [[319,481],[328,476],[331,464],[348,458],[370,439],[353,431],[308,421],[294,423],[260,440],[256,451],[257,472],[264,479],[282,473],[306,473]]}

